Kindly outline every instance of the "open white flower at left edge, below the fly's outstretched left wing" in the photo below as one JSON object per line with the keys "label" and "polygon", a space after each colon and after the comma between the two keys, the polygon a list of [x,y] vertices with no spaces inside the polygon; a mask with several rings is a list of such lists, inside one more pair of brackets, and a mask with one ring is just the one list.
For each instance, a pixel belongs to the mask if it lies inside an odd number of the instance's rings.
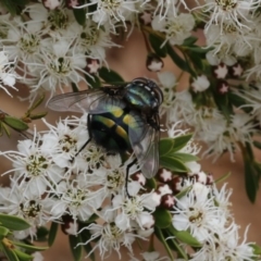
{"label": "open white flower at left edge, below the fly's outstretched left wing", "polygon": [[18,142],[18,151],[1,153],[13,162],[13,178],[20,182],[18,187],[24,189],[24,195],[40,197],[48,191],[48,187],[58,184],[63,177],[63,170],[55,165],[49,153],[41,150],[42,140],[35,135],[33,140]]}

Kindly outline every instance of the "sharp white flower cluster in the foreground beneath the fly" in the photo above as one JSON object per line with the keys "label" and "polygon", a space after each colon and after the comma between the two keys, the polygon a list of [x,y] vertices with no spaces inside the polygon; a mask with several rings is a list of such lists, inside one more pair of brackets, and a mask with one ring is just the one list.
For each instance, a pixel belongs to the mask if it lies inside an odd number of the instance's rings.
{"label": "sharp white flower cluster in the foreground beneath the fly", "polygon": [[[30,224],[28,229],[15,232],[15,238],[35,239],[38,227],[49,221],[58,222],[67,235],[86,238],[77,247],[95,244],[88,254],[98,248],[102,259],[112,250],[121,257],[121,247],[125,246],[135,260],[134,240],[147,240],[161,227],[161,216],[157,214],[161,209],[169,216],[164,226],[170,225],[174,232],[189,232],[199,247],[195,253],[185,254],[190,260],[215,257],[253,260],[251,245],[237,241],[238,226],[228,208],[231,191],[226,186],[219,190],[212,176],[192,160],[199,152],[197,145],[186,141],[176,151],[179,159],[185,157],[188,174],[178,176],[160,169],[156,177],[158,185],[151,189],[134,164],[125,184],[132,157],[123,161],[119,153],[105,151],[91,141],[83,148],[89,137],[86,119],[86,114],[65,119],[57,126],[45,121],[49,130],[35,130],[33,139],[18,142],[17,151],[1,153],[12,161],[13,169],[5,173],[12,173],[11,186],[0,189],[0,210]],[[169,135],[179,140],[179,145],[186,137],[176,125],[170,128]],[[186,161],[188,156],[190,159]],[[99,223],[94,222],[98,217]],[[166,240],[169,237],[173,240],[176,234],[170,231],[165,236]],[[184,244],[189,246],[186,240]],[[147,254],[144,253],[145,259]],[[152,260],[158,257],[152,256]]]}

